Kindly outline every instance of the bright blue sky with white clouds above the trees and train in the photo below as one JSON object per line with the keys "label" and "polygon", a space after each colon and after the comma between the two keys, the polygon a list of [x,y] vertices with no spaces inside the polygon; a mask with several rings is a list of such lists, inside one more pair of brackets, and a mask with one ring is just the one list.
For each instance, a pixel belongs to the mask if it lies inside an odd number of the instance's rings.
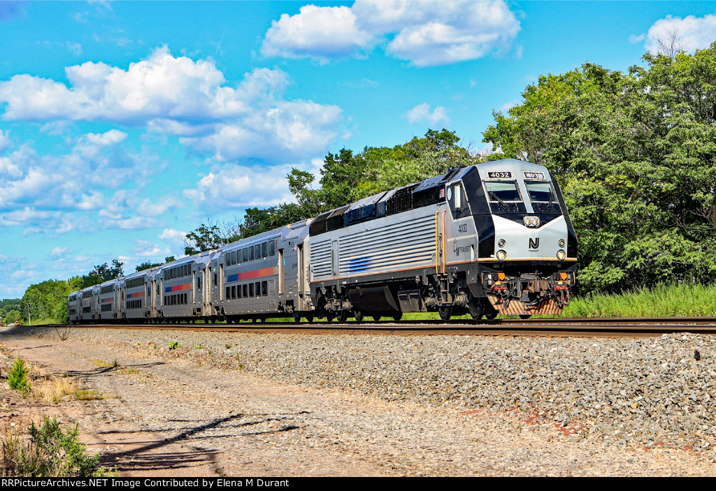
{"label": "bright blue sky with white clouds above the trees and train", "polygon": [[540,74],[626,70],[715,2],[0,1],[0,298],[179,255],[291,167],[448,128],[483,149]]}

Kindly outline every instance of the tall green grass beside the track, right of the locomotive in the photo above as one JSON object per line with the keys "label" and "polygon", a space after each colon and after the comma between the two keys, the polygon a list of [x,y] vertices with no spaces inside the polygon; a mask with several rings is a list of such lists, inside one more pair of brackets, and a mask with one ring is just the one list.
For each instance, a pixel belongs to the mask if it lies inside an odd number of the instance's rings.
{"label": "tall green grass beside the track, right of the locomotive", "polygon": [[621,294],[576,297],[560,317],[699,317],[716,315],[716,286],[662,284]]}

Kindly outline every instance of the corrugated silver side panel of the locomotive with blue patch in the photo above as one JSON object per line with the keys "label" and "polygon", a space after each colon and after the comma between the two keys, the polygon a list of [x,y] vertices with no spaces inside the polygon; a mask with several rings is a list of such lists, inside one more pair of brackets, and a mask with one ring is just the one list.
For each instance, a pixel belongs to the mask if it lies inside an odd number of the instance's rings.
{"label": "corrugated silver side panel of the locomotive with blue patch", "polygon": [[[377,227],[347,227],[339,238],[339,275],[352,277],[372,273],[390,272],[396,269],[430,266],[435,262],[435,215],[421,210],[418,217],[401,216],[370,222]],[[359,231],[350,232],[352,228]],[[313,280],[320,281],[333,277],[331,237],[311,242],[311,264]]]}

